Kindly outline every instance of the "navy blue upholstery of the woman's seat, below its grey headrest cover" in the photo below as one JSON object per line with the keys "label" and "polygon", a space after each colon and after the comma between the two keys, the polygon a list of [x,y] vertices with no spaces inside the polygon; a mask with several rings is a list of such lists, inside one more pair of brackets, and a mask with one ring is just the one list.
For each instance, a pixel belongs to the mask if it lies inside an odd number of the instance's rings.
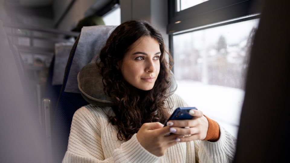
{"label": "navy blue upholstery of the woman's seat, below its grey headrest cover", "polygon": [[55,110],[55,120],[53,125],[53,162],[61,162],[66,152],[73,114],[78,108],[88,104],[88,102],[82,98],[81,94],[64,91],[78,42],[79,37],[72,46],[69,60],[66,65],[60,96],[56,104],[57,107]]}

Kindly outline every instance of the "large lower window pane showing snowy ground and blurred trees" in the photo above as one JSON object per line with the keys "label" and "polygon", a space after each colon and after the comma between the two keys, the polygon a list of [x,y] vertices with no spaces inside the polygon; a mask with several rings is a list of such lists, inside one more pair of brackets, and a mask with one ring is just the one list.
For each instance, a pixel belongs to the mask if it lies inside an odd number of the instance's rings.
{"label": "large lower window pane showing snowy ground and blurred trees", "polygon": [[258,19],[173,36],[176,94],[237,136]]}

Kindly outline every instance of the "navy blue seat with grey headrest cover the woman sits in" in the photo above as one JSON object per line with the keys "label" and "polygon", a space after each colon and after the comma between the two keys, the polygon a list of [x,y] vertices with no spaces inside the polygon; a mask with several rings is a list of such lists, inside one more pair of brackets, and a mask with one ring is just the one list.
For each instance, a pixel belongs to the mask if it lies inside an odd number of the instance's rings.
{"label": "navy blue seat with grey headrest cover the woman sits in", "polygon": [[78,90],[77,74],[93,60],[116,26],[83,27],[72,46],[63,85],[55,110],[53,125],[53,162],[61,162],[67,150],[72,116],[77,109],[89,104]]}

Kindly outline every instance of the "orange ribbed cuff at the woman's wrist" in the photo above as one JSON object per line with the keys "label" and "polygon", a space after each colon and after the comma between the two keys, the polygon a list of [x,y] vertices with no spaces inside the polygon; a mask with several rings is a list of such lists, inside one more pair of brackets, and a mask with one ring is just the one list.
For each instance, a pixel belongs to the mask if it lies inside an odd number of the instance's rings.
{"label": "orange ribbed cuff at the woman's wrist", "polygon": [[[204,115],[205,116],[205,115]],[[210,142],[216,142],[220,138],[220,127],[218,123],[214,120],[211,120],[207,116],[205,116],[208,120],[208,133],[204,140],[208,140]]]}

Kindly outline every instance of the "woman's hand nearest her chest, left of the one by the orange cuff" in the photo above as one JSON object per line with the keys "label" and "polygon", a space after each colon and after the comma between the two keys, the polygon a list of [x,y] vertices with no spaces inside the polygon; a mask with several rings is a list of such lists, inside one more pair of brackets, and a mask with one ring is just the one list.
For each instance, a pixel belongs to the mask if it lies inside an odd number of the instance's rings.
{"label": "woman's hand nearest her chest, left of the one by the orange cuff", "polygon": [[159,122],[144,123],[137,133],[137,139],[147,151],[156,156],[163,156],[168,147],[177,144],[178,137],[183,135],[172,134],[165,136],[170,132],[170,127]]}

